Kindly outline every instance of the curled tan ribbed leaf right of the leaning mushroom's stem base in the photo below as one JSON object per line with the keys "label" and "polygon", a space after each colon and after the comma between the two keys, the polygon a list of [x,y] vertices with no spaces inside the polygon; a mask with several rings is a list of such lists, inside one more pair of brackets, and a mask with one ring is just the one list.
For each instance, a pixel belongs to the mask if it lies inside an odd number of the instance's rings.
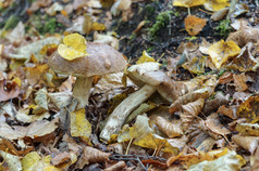
{"label": "curled tan ribbed leaf right of the leaning mushroom's stem base", "polygon": [[165,133],[169,137],[181,136],[183,134],[183,130],[180,121],[170,122],[163,117],[157,117],[156,124],[158,128]]}

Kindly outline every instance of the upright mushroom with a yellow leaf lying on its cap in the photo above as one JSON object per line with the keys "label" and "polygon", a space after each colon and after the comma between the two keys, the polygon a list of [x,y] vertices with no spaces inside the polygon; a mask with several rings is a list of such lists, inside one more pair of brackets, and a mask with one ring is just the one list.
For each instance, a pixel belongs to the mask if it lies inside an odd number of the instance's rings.
{"label": "upright mushroom with a yellow leaf lying on its cap", "polygon": [[77,109],[88,105],[94,76],[121,71],[127,65],[123,55],[108,44],[87,42],[86,45],[89,55],[67,61],[57,51],[48,61],[55,73],[76,77],[73,96],[78,102]]}

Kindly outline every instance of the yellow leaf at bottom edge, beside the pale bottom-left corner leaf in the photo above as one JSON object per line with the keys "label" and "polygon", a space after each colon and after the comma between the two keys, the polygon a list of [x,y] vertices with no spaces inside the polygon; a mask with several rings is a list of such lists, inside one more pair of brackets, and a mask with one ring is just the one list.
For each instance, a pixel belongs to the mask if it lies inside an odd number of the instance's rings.
{"label": "yellow leaf at bottom edge, beside the pale bottom-left corner leaf", "polygon": [[58,169],[50,163],[51,157],[45,156],[41,158],[36,152],[32,152],[27,154],[22,159],[22,167],[24,171],[33,171],[33,170],[51,170],[51,171],[61,171],[62,169]]}

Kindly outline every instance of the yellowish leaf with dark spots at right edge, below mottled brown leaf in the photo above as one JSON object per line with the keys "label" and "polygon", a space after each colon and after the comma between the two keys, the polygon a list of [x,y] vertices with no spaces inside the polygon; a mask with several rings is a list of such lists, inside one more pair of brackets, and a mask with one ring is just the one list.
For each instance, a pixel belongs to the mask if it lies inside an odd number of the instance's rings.
{"label": "yellowish leaf with dark spots at right edge, below mottled brown leaf", "polygon": [[237,123],[236,131],[245,136],[259,136],[258,123]]}

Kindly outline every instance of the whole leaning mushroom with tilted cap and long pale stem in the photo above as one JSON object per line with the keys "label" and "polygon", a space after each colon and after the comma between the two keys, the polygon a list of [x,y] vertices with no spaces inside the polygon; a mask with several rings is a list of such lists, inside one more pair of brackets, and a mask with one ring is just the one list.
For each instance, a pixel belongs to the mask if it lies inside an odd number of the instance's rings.
{"label": "whole leaning mushroom with tilted cap and long pale stem", "polygon": [[106,141],[109,141],[112,134],[118,133],[126,117],[156,91],[171,103],[181,94],[186,93],[184,83],[174,82],[165,73],[159,70],[159,63],[150,62],[133,65],[127,71],[130,79],[141,88],[120,103],[109,116],[100,133],[100,137]]}

